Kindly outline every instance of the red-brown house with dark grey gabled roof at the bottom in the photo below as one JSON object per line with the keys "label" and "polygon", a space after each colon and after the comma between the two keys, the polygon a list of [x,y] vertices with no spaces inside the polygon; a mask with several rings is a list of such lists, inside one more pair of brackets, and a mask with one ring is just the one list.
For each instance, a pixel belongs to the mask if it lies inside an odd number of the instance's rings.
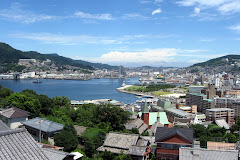
{"label": "red-brown house with dark grey gabled roof at the bottom", "polygon": [[157,159],[179,158],[180,147],[192,147],[193,130],[189,128],[158,127],[155,135]]}

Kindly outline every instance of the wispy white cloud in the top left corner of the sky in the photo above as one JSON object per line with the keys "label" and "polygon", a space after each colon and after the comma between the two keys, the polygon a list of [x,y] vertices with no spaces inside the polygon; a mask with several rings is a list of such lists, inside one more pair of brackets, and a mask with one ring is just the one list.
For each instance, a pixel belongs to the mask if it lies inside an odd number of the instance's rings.
{"label": "wispy white cloud in the top left corner of the sky", "polygon": [[10,8],[0,10],[0,18],[8,21],[29,24],[38,21],[57,19],[59,17],[25,11],[21,8],[19,3],[13,3]]}

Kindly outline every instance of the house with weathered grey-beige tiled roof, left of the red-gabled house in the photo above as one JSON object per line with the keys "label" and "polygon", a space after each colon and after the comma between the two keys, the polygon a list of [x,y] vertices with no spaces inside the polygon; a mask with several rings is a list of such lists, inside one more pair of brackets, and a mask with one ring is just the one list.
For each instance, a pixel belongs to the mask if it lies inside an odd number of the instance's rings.
{"label": "house with weathered grey-beige tiled roof, left of the red-gabled house", "polygon": [[110,132],[107,134],[104,144],[97,151],[124,153],[130,155],[133,160],[145,160],[150,153],[148,146],[149,141],[141,138],[138,134]]}

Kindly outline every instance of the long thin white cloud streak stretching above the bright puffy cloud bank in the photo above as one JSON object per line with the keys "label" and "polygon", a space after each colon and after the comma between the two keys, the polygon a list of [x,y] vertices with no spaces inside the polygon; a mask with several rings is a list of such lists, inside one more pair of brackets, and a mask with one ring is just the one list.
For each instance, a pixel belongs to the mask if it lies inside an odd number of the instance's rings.
{"label": "long thin white cloud streak stretching above the bright puffy cloud bank", "polygon": [[143,44],[137,40],[145,39],[166,39],[176,37],[176,35],[123,35],[118,37],[92,36],[92,35],[62,35],[52,33],[15,33],[11,37],[30,39],[42,43],[60,44],[60,45],[77,45],[77,44]]}

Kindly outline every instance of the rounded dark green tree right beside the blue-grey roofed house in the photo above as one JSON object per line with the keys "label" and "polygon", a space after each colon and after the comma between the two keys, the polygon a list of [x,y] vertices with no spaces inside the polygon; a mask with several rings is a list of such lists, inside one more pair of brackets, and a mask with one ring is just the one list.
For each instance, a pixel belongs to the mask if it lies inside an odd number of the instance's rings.
{"label": "rounded dark green tree right beside the blue-grey roofed house", "polygon": [[74,130],[69,127],[64,127],[60,133],[56,134],[54,141],[57,146],[64,147],[63,150],[66,152],[75,150],[78,145],[77,135],[74,134]]}

